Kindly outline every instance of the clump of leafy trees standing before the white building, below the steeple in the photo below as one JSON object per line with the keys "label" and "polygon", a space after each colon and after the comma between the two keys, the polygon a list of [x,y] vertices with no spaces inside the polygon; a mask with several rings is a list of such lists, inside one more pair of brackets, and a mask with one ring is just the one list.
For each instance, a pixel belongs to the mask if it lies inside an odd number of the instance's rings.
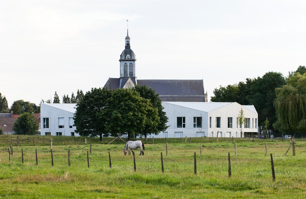
{"label": "clump of leafy trees standing before the white building, below the steeple", "polygon": [[158,96],[147,86],[92,88],[77,103],[73,118],[76,132],[89,137],[99,135],[100,139],[117,134],[128,137],[158,134],[168,128],[168,117]]}

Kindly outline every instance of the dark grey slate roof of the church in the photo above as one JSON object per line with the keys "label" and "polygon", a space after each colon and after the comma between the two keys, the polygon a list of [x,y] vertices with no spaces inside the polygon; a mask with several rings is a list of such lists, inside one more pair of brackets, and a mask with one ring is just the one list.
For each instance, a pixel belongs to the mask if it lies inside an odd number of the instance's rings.
{"label": "dark grey slate roof of the church", "polygon": [[[122,78],[121,78],[122,79]],[[121,81],[121,84],[120,84]],[[122,88],[124,80],[109,78],[104,87],[114,90]],[[125,80],[126,82],[126,80]],[[134,81],[133,81],[134,82]],[[135,82],[134,82],[135,83]],[[159,93],[166,102],[205,102],[203,80],[138,80],[139,86],[147,85]]]}

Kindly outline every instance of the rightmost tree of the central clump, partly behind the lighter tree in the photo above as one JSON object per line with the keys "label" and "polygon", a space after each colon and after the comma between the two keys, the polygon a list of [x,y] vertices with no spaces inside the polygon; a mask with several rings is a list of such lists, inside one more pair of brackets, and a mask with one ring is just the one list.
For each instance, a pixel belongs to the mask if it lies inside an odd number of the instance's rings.
{"label": "rightmost tree of the central clump, partly behind the lighter tree", "polygon": [[[145,123],[144,131],[142,132],[144,137],[147,137],[148,134],[157,135],[161,131],[165,131],[169,127],[166,125],[168,117],[166,116],[166,112],[163,111],[164,107],[162,106],[162,100],[159,98],[159,94],[155,93],[155,90],[146,85],[136,85],[132,89],[136,90],[144,99],[150,100],[152,107],[157,108],[158,111],[158,117],[155,116],[155,112],[151,112],[153,115],[147,115],[147,121]],[[157,126],[156,122],[158,123]]]}

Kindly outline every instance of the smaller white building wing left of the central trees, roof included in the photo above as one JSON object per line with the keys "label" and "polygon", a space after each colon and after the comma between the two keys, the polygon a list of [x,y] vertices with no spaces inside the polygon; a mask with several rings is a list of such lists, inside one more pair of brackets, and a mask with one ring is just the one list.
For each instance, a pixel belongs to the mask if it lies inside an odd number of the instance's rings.
{"label": "smaller white building wing left of the central trees, roof included", "polygon": [[80,136],[75,133],[76,127],[73,126],[73,114],[76,104],[60,103],[41,103],[41,135],[65,135]]}

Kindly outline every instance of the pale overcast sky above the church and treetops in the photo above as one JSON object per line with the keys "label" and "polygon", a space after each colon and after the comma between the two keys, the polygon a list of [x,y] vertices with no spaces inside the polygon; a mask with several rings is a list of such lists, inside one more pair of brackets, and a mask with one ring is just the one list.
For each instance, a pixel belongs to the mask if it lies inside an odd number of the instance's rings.
{"label": "pale overcast sky above the church and treetops", "polygon": [[1,0],[0,92],[41,99],[119,77],[126,19],[138,79],[219,85],[306,65],[306,1]]}

